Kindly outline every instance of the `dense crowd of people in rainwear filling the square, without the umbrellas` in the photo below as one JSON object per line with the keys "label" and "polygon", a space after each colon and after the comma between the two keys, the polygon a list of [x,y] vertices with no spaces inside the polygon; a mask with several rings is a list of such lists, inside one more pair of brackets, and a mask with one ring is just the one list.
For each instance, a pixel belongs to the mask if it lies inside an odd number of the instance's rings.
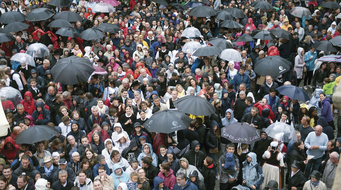
{"label": "dense crowd of people in rainwear filling the square, without the umbrellas", "polygon": [[[0,143],[1,190],[214,190],[218,186],[220,190],[331,190],[341,151],[341,114],[332,102],[341,67],[317,59],[340,52],[318,51],[315,46],[340,35],[340,8],[321,7],[325,0],[272,0],[268,10],[251,7],[254,0],[220,5],[212,0],[167,0],[241,10],[245,17],[234,20],[244,27],[229,29],[220,26],[223,20],[216,16],[194,17],[189,15],[191,8],[179,5],[118,2],[115,12],[96,13],[92,8],[99,2],[93,0],[73,0],[69,6],[53,6],[49,0],[1,1],[0,18],[6,12],[26,15],[44,7],[79,14],[82,19],[71,22],[78,34],[103,23],[120,28],[87,41],[56,34],[59,28],[49,27],[53,19],[48,18],[26,21],[28,29],[11,33],[15,39],[1,44],[0,91],[11,87],[23,97],[20,103],[1,97],[9,123]],[[312,17],[291,15],[296,6],[307,7]],[[181,36],[188,27],[202,35]],[[292,39],[236,42],[273,28],[290,32]],[[242,61],[193,56],[183,49],[189,41],[212,46],[211,38],[230,43]],[[36,42],[47,46],[49,56],[35,57],[35,67],[10,60]],[[73,55],[89,59],[107,74],[92,74],[73,86],[55,81],[51,69]],[[290,70],[275,77],[255,73],[257,62],[268,55],[290,61]],[[276,90],[290,84],[311,89],[311,99],[300,104]],[[188,128],[169,134],[144,127],[155,112],[176,109],[174,102],[184,96],[205,98],[215,113],[188,114],[192,118]],[[236,122],[257,129],[260,139],[243,144],[224,138],[221,128]],[[294,128],[297,139],[284,142],[281,133],[268,136],[265,129],[276,122]],[[16,143],[21,132],[36,125],[54,128],[58,134],[35,144]]]}

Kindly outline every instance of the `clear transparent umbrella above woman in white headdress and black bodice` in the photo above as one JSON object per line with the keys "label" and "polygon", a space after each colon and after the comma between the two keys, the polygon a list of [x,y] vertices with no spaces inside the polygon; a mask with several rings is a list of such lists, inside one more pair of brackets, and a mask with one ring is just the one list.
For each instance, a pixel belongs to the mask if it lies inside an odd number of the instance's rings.
{"label": "clear transparent umbrella above woman in white headdress and black bodice", "polygon": [[293,127],[283,122],[272,123],[265,129],[269,137],[283,142],[297,142],[296,132]]}

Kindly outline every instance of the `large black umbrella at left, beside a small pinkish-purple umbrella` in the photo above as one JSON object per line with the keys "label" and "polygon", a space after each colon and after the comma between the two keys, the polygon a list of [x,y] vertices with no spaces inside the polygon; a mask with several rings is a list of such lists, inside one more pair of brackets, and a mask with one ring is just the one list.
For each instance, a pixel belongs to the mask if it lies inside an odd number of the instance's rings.
{"label": "large black umbrella at left, beside a small pinkish-purple umbrella", "polygon": [[77,57],[75,55],[59,59],[51,69],[51,74],[56,82],[67,85],[88,81],[95,69],[89,59]]}

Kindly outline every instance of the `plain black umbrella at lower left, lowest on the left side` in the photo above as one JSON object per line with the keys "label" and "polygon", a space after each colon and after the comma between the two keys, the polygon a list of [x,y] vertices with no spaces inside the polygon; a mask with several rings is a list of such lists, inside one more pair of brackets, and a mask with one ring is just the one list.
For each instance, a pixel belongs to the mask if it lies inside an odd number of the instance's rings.
{"label": "plain black umbrella at lower left, lowest on the left side", "polygon": [[59,133],[47,125],[37,125],[21,131],[15,138],[17,144],[34,144],[42,140],[48,140]]}

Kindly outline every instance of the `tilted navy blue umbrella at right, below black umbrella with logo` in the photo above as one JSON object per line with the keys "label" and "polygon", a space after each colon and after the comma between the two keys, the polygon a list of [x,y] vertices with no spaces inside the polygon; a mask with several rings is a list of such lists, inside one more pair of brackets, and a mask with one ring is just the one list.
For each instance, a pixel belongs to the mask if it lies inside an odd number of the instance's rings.
{"label": "tilted navy blue umbrella at right, below black umbrella with logo", "polygon": [[308,101],[310,100],[308,94],[299,87],[293,85],[284,85],[276,89],[280,94],[287,96],[294,100]]}

